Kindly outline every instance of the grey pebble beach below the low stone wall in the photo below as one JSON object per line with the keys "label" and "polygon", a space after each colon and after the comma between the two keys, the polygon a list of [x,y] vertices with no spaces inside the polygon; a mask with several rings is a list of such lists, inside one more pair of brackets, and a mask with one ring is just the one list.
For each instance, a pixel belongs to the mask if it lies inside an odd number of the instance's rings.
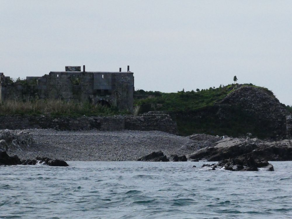
{"label": "grey pebble beach below the low stone wall", "polygon": [[153,151],[184,155],[180,149],[188,137],[161,131],[56,131],[54,129],[20,130],[32,134],[34,143],[7,153],[20,159],[49,157],[65,161],[135,161]]}

